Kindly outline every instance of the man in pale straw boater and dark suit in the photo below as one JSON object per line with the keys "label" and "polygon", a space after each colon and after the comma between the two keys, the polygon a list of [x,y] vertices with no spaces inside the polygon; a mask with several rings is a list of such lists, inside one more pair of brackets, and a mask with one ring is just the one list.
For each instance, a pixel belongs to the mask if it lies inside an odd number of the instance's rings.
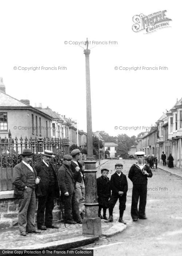
{"label": "man in pale straw boater and dark suit", "polygon": [[55,156],[50,150],[44,150],[41,154],[43,155],[42,161],[34,166],[40,177],[38,187],[41,192],[38,197],[37,227],[40,230],[58,229],[58,226],[53,225],[53,208],[54,199],[59,197],[59,186],[54,165],[50,162]]}

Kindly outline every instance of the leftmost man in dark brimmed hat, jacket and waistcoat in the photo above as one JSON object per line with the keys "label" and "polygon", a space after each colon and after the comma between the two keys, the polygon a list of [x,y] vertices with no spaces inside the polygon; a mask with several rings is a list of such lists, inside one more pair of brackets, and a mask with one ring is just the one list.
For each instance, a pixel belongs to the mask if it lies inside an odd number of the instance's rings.
{"label": "leftmost man in dark brimmed hat, jacket and waistcoat", "polygon": [[12,183],[15,185],[14,195],[20,198],[18,212],[18,226],[21,236],[27,233],[40,233],[35,229],[34,217],[36,210],[35,186],[39,184],[36,170],[32,167],[32,151],[24,148],[22,162],[15,165]]}

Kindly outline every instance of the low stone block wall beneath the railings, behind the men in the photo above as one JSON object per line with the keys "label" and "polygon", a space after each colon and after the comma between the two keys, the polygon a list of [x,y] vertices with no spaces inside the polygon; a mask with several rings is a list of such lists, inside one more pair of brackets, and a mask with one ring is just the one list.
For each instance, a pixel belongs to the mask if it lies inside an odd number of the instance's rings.
{"label": "low stone block wall beneath the railings, behind the men", "polygon": [[[13,196],[13,191],[0,192],[0,229],[18,226],[18,203],[19,199]],[[55,200],[53,210],[53,222],[62,220],[59,200]],[[36,212],[38,207],[38,199],[36,200]],[[36,223],[35,212],[35,223]]]}

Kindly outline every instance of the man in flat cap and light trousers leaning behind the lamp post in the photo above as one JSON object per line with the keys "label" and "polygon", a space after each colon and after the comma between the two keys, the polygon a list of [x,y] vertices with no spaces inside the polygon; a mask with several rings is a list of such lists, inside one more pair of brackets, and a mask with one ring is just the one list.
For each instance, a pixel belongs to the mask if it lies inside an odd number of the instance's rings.
{"label": "man in flat cap and light trousers leaning behind the lamp post", "polygon": [[71,151],[71,156],[73,159],[71,160],[70,168],[73,172],[73,178],[75,181],[75,196],[78,201],[78,207],[80,211],[80,215],[82,218],[85,217],[85,179],[84,179],[84,171],[81,163],[79,162],[81,158],[81,151],[77,148]]}

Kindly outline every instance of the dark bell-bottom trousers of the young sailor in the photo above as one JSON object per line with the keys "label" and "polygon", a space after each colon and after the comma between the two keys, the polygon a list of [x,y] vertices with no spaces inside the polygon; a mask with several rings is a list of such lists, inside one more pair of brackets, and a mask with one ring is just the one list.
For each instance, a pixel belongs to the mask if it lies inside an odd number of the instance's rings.
{"label": "dark bell-bottom trousers of the young sailor", "polygon": [[[140,203],[139,203],[139,211],[138,211],[139,197],[140,197]],[[134,184],[132,189],[132,203],[131,203],[132,219],[145,217],[146,202],[147,202],[147,185]]]}

